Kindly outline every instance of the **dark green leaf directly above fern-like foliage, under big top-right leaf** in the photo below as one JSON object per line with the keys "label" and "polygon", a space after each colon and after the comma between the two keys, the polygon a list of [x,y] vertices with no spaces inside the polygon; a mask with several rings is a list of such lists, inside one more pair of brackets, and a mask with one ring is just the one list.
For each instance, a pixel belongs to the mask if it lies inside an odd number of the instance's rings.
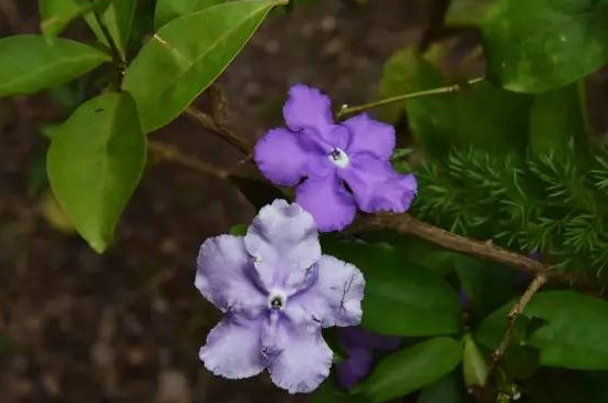
{"label": "dark green leaf directly above fern-like foliage, under big top-right leaf", "polygon": [[583,153],[587,132],[576,84],[538,94],[530,121],[530,146],[534,156],[554,155],[564,160]]}

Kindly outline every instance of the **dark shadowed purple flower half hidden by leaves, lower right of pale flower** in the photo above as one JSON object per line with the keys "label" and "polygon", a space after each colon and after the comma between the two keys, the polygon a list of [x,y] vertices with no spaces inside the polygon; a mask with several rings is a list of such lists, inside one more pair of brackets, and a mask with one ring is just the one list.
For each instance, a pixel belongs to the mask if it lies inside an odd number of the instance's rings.
{"label": "dark shadowed purple flower half hidden by leaves, lower right of pale flower", "polygon": [[337,365],[338,384],[350,390],[369,373],[374,350],[396,350],[401,344],[401,339],[373,333],[361,327],[352,327],[340,330],[338,342],[348,354],[348,358]]}

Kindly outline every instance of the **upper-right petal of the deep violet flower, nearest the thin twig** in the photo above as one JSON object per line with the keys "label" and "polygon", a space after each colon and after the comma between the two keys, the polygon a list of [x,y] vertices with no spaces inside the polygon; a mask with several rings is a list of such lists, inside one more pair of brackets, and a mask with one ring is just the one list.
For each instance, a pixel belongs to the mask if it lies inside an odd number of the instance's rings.
{"label": "upper-right petal of the deep violet flower, nearest the thin twig", "polygon": [[369,152],[389,160],[395,151],[395,128],[371,119],[367,114],[356,115],[343,123],[350,130],[348,153]]}

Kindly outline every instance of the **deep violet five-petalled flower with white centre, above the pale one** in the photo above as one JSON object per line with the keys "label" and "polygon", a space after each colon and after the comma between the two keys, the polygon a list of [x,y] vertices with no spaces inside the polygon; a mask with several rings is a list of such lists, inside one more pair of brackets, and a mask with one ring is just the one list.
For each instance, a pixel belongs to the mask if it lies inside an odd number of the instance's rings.
{"label": "deep violet five-petalled flower with white centre, above the pale one", "polygon": [[255,161],[276,184],[297,185],[296,202],[319,231],[338,231],[368,213],[405,212],[416,178],[395,172],[389,160],[395,129],[366,114],[336,124],[329,98],[298,84],[283,108],[286,128],[270,130],[255,146]]}

